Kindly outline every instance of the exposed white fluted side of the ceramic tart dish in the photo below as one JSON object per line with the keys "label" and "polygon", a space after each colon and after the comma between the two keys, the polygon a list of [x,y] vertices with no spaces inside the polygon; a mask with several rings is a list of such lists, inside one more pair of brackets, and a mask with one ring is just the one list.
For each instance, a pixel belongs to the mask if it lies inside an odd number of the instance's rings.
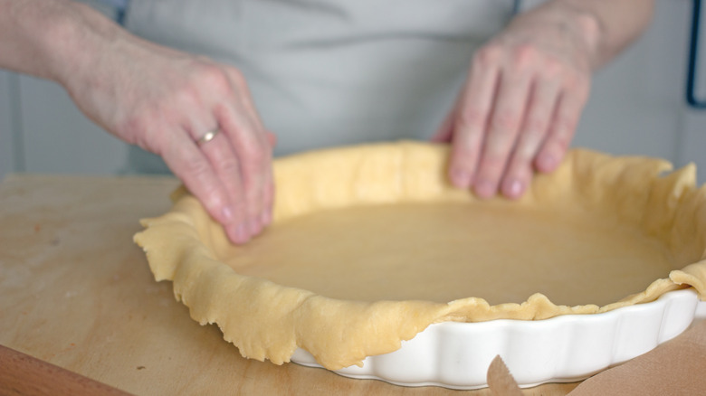
{"label": "exposed white fluted side of the ceramic tart dish", "polygon": [[[577,382],[653,350],[682,334],[701,314],[706,315],[706,303],[700,304],[696,292],[687,288],[602,314],[444,322],[429,325],[395,352],[368,356],[362,367],[335,372],[403,386],[471,390],[488,386],[488,367],[501,355],[522,388]],[[291,361],[321,367],[301,348]]]}

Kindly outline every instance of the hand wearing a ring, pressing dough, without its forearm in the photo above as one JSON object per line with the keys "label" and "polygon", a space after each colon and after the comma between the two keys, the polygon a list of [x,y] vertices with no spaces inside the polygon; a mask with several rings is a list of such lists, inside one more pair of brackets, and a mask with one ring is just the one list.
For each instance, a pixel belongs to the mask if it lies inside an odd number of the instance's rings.
{"label": "hand wearing a ring, pressing dough, without its forearm", "polygon": [[162,156],[235,243],[272,222],[274,139],[239,71],[132,36],[101,55],[65,81],[85,114]]}

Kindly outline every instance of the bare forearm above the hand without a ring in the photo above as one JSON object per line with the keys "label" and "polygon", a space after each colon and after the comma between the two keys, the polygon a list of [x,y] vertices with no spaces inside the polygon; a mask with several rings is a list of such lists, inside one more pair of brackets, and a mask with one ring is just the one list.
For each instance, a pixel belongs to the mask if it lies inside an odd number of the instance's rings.
{"label": "bare forearm above the hand without a ring", "polygon": [[592,68],[612,60],[652,21],[654,0],[552,0],[528,14],[560,19],[586,40]]}

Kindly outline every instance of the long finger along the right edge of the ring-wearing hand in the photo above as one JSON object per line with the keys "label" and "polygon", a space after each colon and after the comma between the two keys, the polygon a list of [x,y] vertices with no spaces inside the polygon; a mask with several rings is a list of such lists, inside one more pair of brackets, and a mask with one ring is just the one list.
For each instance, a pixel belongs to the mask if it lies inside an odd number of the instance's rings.
{"label": "long finger along the right edge of the ring-wearing hand", "polygon": [[248,230],[258,234],[264,226],[262,219],[271,210],[266,207],[266,189],[272,183],[272,146],[243,108],[220,107],[215,115],[238,158]]}

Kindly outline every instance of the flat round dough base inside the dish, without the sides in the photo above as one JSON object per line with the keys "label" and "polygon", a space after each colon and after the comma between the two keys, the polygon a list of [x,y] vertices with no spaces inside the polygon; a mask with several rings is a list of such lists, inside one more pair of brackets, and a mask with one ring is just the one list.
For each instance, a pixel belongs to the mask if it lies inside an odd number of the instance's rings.
{"label": "flat round dough base inside the dish, without the sides", "polygon": [[541,292],[562,305],[602,306],[673,269],[668,251],[637,227],[505,200],[311,213],[217,256],[242,275],[367,302],[521,303]]}

